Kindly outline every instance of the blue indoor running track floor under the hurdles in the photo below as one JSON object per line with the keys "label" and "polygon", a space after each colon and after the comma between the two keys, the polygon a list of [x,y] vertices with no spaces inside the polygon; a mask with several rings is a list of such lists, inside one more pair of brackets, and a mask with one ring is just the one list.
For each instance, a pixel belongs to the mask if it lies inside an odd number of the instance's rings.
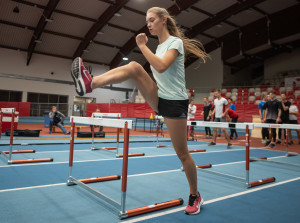
{"label": "blue indoor running track floor under the hurdles", "polygon": [[[55,143],[57,140],[52,141]],[[170,142],[163,143],[170,144]],[[107,143],[105,140],[101,143],[101,146],[113,145],[114,143]],[[81,179],[121,175],[122,159],[115,158],[115,154],[110,152],[91,151],[90,146],[89,143],[75,145],[74,177]],[[120,147],[122,146],[120,143]],[[136,140],[130,143],[130,153],[143,152],[146,155],[129,159],[127,209],[179,197],[184,199],[185,204],[187,202],[188,183],[184,172],[180,170],[181,163],[173,148],[155,146],[154,142]],[[0,147],[1,150],[3,148],[4,146]],[[14,149],[36,150],[33,154],[14,154],[14,159],[51,157],[54,158],[54,162],[7,165],[5,159],[0,158],[1,222],[20,222],[20,219],[32,223],[119,222],[117,215],[105,202],[78,186],[66,186],[69,170],[68,144],[14,146]],[[229,150],[222,144],[208,147],[207,143],[189,142],[189,149],[206,149],[204,153],[192,154],[197,165],[211,163],[213,165],[211,170],[245,177],[244,147],[234,146]],[[274,161],[300,164],[300,157],[285,157],[284,153],[279,151],[251,149],[250,153],[253,157],[268,157]],[[275,177],[276,183],[285,182],[300,177],[300,168],[265,162],[250,164],[250,181],[268,177]],[[90,186],[120,201],[120,183],[121,181],[117,180],[90,184]],[[198,170],[198,183],[199,190],[206,201],[254,190],[246,189],[244,183],[212,175],[203,170]],[[286,222],[298,222],[300,214],[295,209],[299,207],[299,180],[278,186],[275,186],[276,183],[268,184],[273,184],[274,187],[208,203],[197,216],[184,215],[183,210],[180,209],[172,214],[163,214],[160,217],[141,221],[224,222],[226,219],[225,222],[250,222],[251,219],[257,222],[282,222],[285,216]],[[274,216],[271,216],[272,211]],[[139,217],[133,219],[138,220]]]}

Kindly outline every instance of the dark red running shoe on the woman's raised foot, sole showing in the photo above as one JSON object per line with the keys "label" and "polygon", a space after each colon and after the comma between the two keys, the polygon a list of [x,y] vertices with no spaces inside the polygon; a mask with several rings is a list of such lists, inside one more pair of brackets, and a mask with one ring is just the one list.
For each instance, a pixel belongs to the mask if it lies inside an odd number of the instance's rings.
{"label": "dark red running shoe on the woman's raised foot, sole showing", "polygon": [[89,71],[83,65],[82,59],[76,57],[73,60],[71,68],[71,76],[74,80],[75,89],[79,96],[83,96],[87,93],[91,93],[93,77]]}

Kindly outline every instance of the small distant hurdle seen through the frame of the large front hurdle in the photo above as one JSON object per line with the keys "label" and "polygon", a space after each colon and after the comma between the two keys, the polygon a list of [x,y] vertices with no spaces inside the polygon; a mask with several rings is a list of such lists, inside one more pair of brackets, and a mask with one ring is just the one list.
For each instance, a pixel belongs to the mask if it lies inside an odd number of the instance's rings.
{"label": "small distant hurdle seen through the frame of the large front hurdle", "polygon": [[[93,118],[116,118],[116,119],[120,119],[121,118],[121,113],[98,113],[98,112],[94,112],[92,114]],[[93,125],[92,127],[92,147],[91,150],[92,151],[96,151],[96,150],[104,150],[107,152],[112,152],[116,154],[116,158],[121,158],[123,157],[122,154],[119,154],[119,141],[120,141],[120,128],[117,128],[117,146],[114,147],[96,147],[95,146],[95,125]],[[129,154],[130,157],[132,156],[144,156],[144,153],[132,153]]]}

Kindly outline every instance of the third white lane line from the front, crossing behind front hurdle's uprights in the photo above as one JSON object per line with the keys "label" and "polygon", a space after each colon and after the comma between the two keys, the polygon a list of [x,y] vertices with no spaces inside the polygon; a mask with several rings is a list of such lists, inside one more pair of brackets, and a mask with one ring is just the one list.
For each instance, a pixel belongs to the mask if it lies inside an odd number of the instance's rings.
{"label": "third white lane line from the front, crossing behind front hurdle's uprights", "polygon": [[[230,150],[220,150],[220,151],[209,151],[205,153],[193,153],[192,155],[197,154],[210,154],[210,153],[221,153],[221,152],[235,152],[235,151],[241,151],[244,149],[230,149]],[[176,153],[171,154],[164,154],[164,155],[153,155],[153,156],[137,156],[137,157],[130,157],[130,159],[145,159],[145,158],[155,158],[155,157],[166,157],[166,156],[177,156]],[[122,160],[118,158],[108,158],[108,159],[96,159],[96,160],[79,160],[79,161],[73,161],[73,163],[85,163],[85,162],[98,162],[98,161],[113,161],[113,160]],[[55,164],[64,164],[69,163],[69,161],[63,161],[63,162],[49,162],[49,163],[28,163],[28,164],[18,164],[18,165],[5,165],[0,166],[0,168],[3,167],[20,167],[20,166],[37,166],[37,165],[55,165]]]}

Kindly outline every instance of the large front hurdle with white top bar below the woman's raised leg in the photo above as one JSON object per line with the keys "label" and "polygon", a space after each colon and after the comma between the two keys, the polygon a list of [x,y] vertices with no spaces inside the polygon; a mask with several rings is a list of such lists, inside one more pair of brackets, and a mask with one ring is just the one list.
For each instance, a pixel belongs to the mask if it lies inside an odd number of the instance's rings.
{"label": "large front hurdle with white top bar below the woman's raised leg", "polygon": [[[73,156],[74,156],[74,130],[75,123],[80,124],[89,124],[89,125],[101,125],[107,127],[114,128],[122,128],[124,129],[124,147],[123,147],[123,164],[122,164],[122,177],[119,175],[113,176],[105,176],[105,177],[95,177],[95,178],[87,178],[87,179],[76,179],[72,176],[73,169]],[[133,217],[136,215],[141,215],[157,210],[162,210],[170,207],[175,207],[183,204],[183,199],[178,198],[175,200],[156,203],[140,208],[135,208],[131,210],[126,210],[126,192],[127,192],[127,175],[128,175],[128,157],[129,157],[129,130],[133,128],[132,120],[124,120],[124,119],[101,119],[101,118],[84,118],[84,117],[71,117],[71,136],[70,136],[70,154],[69,154],[69,177],[67,180],[68,186],[77,185],[81,188],[87,190],[93,195],[105,201],[110,207],[114,210],[114,212],[119,216],[120,219],[125,219],[129,217]],[[119,180],[122,179],[121,182],[121,199],[120,202],[110,198],[104,193],[95,190],[94,188],[88,186],[88,183],[95,182],[104,182],[110,180]]]}

